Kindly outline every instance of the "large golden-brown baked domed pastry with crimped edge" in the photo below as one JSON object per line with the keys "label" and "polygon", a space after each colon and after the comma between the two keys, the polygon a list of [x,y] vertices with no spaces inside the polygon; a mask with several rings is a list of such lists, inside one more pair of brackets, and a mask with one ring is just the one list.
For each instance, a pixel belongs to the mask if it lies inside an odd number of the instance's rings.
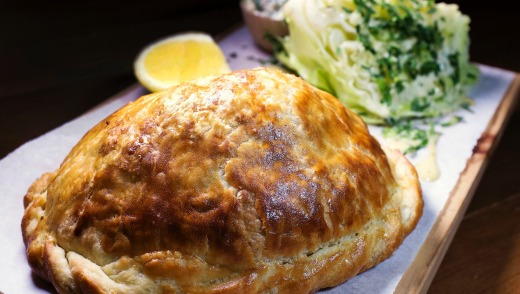
{"label": "large golden-brown baked domed pastry with crimped edge", "polygon": [[356,114],[259,68],[126,105],[24,205],[29,264],[60,293],[304,293],[390,256],[423,202]]}

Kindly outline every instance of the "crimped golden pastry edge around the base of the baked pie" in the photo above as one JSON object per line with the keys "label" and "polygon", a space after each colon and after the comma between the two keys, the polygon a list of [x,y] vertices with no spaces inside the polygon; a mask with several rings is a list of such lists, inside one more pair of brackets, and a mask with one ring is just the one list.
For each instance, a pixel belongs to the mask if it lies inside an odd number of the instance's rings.
{"label": "crimped golden pastry edge around the base of the baked pie", "polygon": [[[364,250],[368,247],[366,244],[380,240],[370,237],[376,235],[370,231],[370,227],[375,226],[367,224],[365,230],[352,232],[339,240],[330,241],[314,253],[302,252],[299,257],[294,258],[298,260],[297,262],[290,259],[264,261],[255,270],[246,272],[245,275],[235,276],[227,281],[217,281],[219,283],[214,285],[200,285],[192,288],[190,292],[290,293],[303,291],[312,293],[321,288],[339,285],[391,256],[417,225],[422,215],[423,201],[415,168],[399,151],[385,149],[385,153],[398,187],[393,192],[392,200],[383,209],[392,209],[391,206],[397,202],[401,211],[400,215],[404,220],[404,230],[393,232],[393,236],[387,238],[379,246],[375,246],[376,251],[371,256]],[[54,173],[42,175],[34,182],[24,198],[26,212],[22,222],[22,231],[27,246],[27,257],[35,273],[49,280],[59,293],[183,292],[174,280],[154,280],[146,277],[140,270],[140,265],[135,262],[135,259],[140,257],[125,256],[113,264],[98,266],[76,252],[65,252],[52,234],[43,230],[47,186],[54,176]],[[372,222],[378,221],[383,220],[372,220]],[[352,240],[355,241],[352,242]],[[346,244],[355,245],[358,250],[345,250]],[[353,252],[353,254],[348,254],[348,252]],[[315,266],[317,260],[327,260],[328,264],[321,264],[321,267]],[[141,277],[141,283],[117,283],[111,279],[104,270],[113,266],[117,267],[118,264],[126,264],[127,268],[123,272]],[[313,276],[303,279],[303,282],[297,279],[284,280],[285,277],[291,275],[291,271],[309,267],[309,265],[313,266],[315,272]],[[140,287],[139,285],[145,286]]]}

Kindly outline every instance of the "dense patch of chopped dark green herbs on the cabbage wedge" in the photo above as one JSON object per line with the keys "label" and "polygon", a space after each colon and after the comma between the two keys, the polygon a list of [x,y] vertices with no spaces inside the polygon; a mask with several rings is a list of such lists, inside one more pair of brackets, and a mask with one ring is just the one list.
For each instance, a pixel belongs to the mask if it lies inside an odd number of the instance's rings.
{"label": "dense patch of chopped dark green herbs on the cabbage wedge", "polygon": [[[402,77],[413,80],[419,75],[439,74],[437,51],[442,46],[443,37],[437,23],[426,25],[420,14],[404,4],[362,0],[355,0],[354,3],[364,21],[363,25],[356,27],[358,40],[365,50],[375,56],[382,56],[377,58],[376,71],[369,71],[378,85],[382,104],[391,105],[392,95],[404,91]],[[428,5],[433,13],[435,6]],[[376,6],[386,12],[388,17],[381,16],[384,13],[376,14]],[[350,12],[345,8],[344,11]],[[372,39],[384,40],[391,45],[386,52],[377,52]],[[395,45],[403,40],[415,42],[410,49],[403,50],[403,47]],[[411,109],[416,112],[428,107],[428,103],[418,103],[416,100],[411,102]]]}

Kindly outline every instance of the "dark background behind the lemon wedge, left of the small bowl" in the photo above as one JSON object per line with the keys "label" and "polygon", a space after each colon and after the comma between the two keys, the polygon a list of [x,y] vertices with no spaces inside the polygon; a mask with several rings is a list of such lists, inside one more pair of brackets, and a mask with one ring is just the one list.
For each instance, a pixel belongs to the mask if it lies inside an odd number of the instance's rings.
{"label": "dark background behind the lemon wedge, left of the small bowl", "polygon": [[148,43],[241,21],[237,1],[0,1],[0,158],[136,82]]}

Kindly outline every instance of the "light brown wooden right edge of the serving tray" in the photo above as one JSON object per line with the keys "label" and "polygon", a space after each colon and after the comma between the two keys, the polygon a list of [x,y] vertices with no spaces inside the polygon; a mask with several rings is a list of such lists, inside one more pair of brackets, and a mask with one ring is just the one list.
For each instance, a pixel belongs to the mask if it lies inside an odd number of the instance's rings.
{"label": "light brown wooden right edge of the serving tray", "polygon": [[490,155],[500,140],[503,127],[515,108],[519,91],[520,75],[516,75],[486,131],[473,149],[473,155],[468,160],[466,169],[461,174],[446,206],[419,249],[417,257],[397,285],[395,293],[427,292],[471,202]]}

